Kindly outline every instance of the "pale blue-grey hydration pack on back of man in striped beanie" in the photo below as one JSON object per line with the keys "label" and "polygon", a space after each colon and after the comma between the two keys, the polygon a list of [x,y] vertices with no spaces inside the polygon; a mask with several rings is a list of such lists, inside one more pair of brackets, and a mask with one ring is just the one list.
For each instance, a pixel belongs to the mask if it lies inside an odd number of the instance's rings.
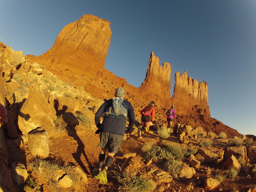
{"label": "pale blue-grey hydration pack on back of man in striped beanie", "polygon": [[112,100],[112,106],[105,111],[104,116],[112,115],[117,117],[119,115],[123,115],[125,118],[127,118],[127,110],[124,108],[126,105],[123,103],[124,99],[122,97],[116,97]]}

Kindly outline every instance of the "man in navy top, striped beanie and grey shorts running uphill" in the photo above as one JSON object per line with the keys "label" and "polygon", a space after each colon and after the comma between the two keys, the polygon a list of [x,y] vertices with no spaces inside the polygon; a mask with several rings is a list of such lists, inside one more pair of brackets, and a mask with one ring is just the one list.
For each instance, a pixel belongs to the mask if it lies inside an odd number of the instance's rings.
{"label": "man in navy top, striped beanie and grey shorts running uphill", "polygon": [[[100,143],[97,147],[101,147],[99,155],[99,169],[92,170],[95,178],[100,179],[101,184],[107,184],[107,169],[113,162],[113,157],[117,153],[124,134],[133,132],[135,116],[132,104],[124,100],[125,91],[122,87],[118,87],[115,92],[115,99],[105,101],[95,114],[95,124],[98,130],[95,133],[100,133]],[[100,117],[103,115],[102,124]],[[129,127],[126,130],[126,119],[129,118]],[[105,164],[105,154],[108,151]],[[103,169],[102,169],[103,168]]]}

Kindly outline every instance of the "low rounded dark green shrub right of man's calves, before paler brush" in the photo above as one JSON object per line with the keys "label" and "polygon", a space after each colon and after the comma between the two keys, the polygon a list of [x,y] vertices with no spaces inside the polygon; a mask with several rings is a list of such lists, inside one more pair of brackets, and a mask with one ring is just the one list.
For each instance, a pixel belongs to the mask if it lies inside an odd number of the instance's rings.
{"label": "low rounded dark green shrub right of man's calves, before paler brush", "polygon": [[165,148],[153,145],[151,150],[146,152],[145,159],[151,160],[157,158],[159,160],[163,159],[171,159],[173,156],[172,154],[166,150]]}

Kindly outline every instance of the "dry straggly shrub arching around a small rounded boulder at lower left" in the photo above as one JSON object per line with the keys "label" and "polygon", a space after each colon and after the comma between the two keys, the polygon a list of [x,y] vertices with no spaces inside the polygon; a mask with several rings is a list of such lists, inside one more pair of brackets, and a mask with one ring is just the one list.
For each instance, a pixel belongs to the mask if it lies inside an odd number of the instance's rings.
{"label": "dry straggly shrub arching around a small rounded boulder at lower left", "polygon": [[29,163],[29,166],[35,171],[36,177],[41,177],[41,173],[44,173],[47,176],[49,185],[55,186],[57,184],[56,172],[59,170],[63,170],[74,184],[83,184],[82,177],[71,167],[71,165],[60,165],[55,161],[35,159]]}

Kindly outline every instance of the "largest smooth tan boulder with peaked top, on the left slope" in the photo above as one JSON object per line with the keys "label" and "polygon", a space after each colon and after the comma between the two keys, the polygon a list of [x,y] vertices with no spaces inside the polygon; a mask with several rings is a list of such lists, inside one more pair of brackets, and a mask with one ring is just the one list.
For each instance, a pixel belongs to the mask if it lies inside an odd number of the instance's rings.
{"label": "largest smooth tan boulder with peaked top, on the left slope", "polygon": [[20,108],[18,126],[23,134],[41,126],[51,126],[56,111],[36,89],[29,90],[28,99]]}

